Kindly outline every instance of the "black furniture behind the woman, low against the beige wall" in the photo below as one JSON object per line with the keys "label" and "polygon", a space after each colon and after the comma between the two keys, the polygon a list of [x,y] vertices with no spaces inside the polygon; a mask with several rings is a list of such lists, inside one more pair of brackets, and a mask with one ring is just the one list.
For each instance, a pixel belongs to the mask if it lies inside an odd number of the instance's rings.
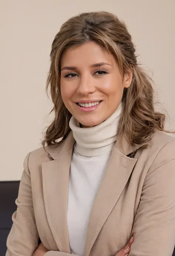
{"label": "black furniture behind the woman, low against the beige wall", "polygon": [[[6,240],[12,225],[11,216],[16,211],[19,184],[20,181],[0,182],[0,256],[5,256],[7,250]],[[172,256],[175,256],[175,250]]]}

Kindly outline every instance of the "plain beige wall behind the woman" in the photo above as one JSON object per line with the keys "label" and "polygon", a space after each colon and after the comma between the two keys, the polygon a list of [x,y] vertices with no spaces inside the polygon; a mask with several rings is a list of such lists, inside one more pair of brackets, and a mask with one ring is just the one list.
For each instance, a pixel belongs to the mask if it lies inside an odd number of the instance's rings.
{"label": "plain beige wall behind the woman", "polygon": [[97,10],[126,21],[175,129],[175,0],[0,0],[0,180],[19,180],[24,157],[40,147],[51,109],[49,51],[60,25]]}

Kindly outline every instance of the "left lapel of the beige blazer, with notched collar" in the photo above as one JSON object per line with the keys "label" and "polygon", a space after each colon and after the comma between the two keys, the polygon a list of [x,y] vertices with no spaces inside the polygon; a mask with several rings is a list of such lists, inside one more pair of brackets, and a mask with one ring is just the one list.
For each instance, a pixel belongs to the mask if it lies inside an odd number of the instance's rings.
{"label": "left lapel of the beige blazer, with notched collar", "polygon": [[70,253],[67,227],[69,169],[74,144],[72,133],[52,151],[52,161],[42,164],[43,193],[48,223],[59,251]]}

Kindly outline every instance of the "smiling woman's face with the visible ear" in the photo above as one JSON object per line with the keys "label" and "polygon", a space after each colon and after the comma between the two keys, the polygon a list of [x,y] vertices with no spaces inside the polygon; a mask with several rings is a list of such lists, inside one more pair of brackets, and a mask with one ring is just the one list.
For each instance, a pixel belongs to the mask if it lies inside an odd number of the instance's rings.
{"label": "smiling woman's face with the visible ear", "polygon": [[122,76],[113,54],[93,41],[65,50],[61,58],[61,95],[69,112],[82,124],[102,123],[117,109],[132,73]]}

